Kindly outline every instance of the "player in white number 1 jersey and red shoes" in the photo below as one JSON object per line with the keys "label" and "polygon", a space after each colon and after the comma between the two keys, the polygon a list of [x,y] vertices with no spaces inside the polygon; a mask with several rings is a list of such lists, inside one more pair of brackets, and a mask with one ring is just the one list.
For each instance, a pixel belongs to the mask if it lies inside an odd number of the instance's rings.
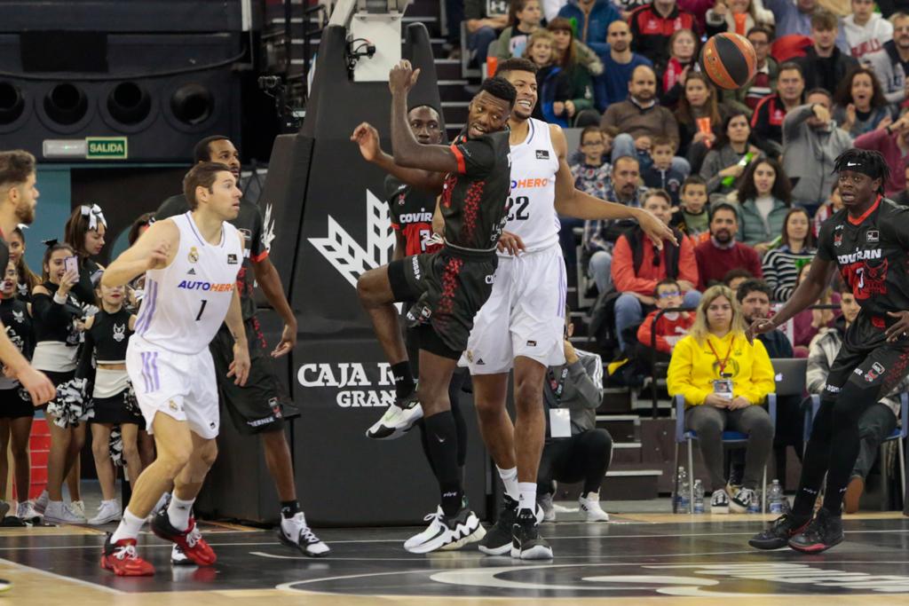
{"label": "player in white number 1 jersey and red shoes", "polygon": [[191,510],[217,454],[220,415],[208,343],[221,323],[235,338],[228,374],[242,385],[249,373],[236,292],[245,242],[227,223],[240,212],[240,190],[226,164],[204,163],[186,174],[184,194],[191,211],[155,222],[101,279],[105,286],[118,286],[145,273],[145,299],[126,351],[126,370],[158,452],[136,480],[120,525],[105,540],[101,566],[118,576],[155,573],[136,553],[136,537],[171,482],[173,497],[155,514],[152,531],[178,544],[195,564],[215,563],[215,551]]}

